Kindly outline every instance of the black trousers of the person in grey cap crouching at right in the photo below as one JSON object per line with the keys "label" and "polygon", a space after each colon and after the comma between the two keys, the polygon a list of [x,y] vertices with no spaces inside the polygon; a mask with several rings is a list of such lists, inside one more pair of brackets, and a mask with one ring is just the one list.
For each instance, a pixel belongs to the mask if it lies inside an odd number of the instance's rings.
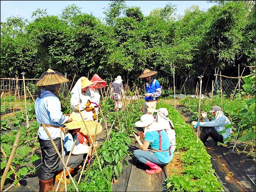
{"label": "black trousers of the person in grey cap crouching at right", "polygon": [[222,135],[218,134],[218,132],[215,130],[214,127],[201,127],[202,131],[200,134],[200,139],[204,143],[209,136],[212,137],[212,139],[217,143],[221,142],[223,143],[223,137]]}

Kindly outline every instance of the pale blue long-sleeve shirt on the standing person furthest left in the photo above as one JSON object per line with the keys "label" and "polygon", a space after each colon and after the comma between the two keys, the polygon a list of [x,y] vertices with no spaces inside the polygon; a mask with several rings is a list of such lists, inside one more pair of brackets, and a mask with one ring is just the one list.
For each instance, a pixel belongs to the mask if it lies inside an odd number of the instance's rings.
{"label": "pale blue long-sleeve shirt on the standing person furthest left", "polygon": [[[58,97],[52,92],[43,89],[41,91],[41,97],[35,101],[35,115],[38,124],[44,123],[45,125],[63,126],[63,124],[69,119],[69,116],[64,116],[61,112],[61,102]],[[61,137],[59,128],[49,127],[47,128],[52,139]],[[38,136],[42,140],[50,140],[43,126],[38,129]],[[64,139],[62,133],[62,138]]]}

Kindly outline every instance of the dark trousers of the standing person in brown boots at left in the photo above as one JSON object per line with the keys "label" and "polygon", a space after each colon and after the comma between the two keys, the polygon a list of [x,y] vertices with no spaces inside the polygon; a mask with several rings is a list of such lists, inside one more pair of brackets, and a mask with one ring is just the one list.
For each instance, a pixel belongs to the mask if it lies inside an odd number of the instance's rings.
{"label": "dark trousers of the standing person in brown boots at left", "polygon": [[[39,137],[38,141],[40,143],[43,158],[41,164],[41,179],[52,179],[55,172],[58,171],[60,158],[58,157],[58,154],[55,151],[51,141],[41,140]],[[61,138],[56,138],[53,141],[58,148],[58,151],[61,153]]]}

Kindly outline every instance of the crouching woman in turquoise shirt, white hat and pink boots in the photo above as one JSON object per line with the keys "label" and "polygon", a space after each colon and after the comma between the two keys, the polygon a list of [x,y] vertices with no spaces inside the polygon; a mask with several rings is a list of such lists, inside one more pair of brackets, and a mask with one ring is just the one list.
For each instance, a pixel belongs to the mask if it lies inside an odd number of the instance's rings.
{"label": "crouching woman in turquoise shirt, white hat and pink boots", "polygon": [[[173,157],[173,151],[169,141],[169,137],[160,123],[155,122],[152,115],[145,114],[141,116],[140,121],[136,122],[137,127],[143,127],[145,138],[142,132],[137,136],[134,134],[135,139],[140,149],[134,151],[134,157],[141,163],[149,166],[146,173],[155,174],[161,172],[160,166],[166,166]],[[140,138],[145,141],[142,143]]]}

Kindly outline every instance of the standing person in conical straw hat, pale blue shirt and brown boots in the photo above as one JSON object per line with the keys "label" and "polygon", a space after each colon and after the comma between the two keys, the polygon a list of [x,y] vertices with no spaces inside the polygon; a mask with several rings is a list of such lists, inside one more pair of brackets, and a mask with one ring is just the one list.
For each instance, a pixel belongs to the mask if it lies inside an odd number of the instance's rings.
{"label": "standing person in conical straw hat, pale blue shirt and brown boots", "polygon": [[[48,69],[37,82],[38,97],[35,101],[35,115],[39,124],[44,123],[50,136],[55,142],[58,151],[61,152],[60,128],[66,122],[71,122],[69,116],[61,112],[61,102],[57,96],[61,83],[69,81],[61,73]],[[63,129],[62,129],[63,130]],[[64,133],[62,132],[62,138]],[[45,132],[43,126],[38,129],[38,141],[42,153],[40,191],[51,191],[53,177],[57,172],[60,159],[53,145]]]}

